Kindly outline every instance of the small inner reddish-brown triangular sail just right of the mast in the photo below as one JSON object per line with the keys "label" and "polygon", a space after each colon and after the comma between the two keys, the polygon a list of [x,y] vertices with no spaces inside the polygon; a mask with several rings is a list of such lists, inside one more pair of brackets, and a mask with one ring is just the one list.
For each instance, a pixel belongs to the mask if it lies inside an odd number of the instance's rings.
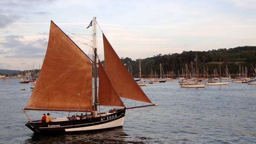
{"label": "small inner reddish-brown triangular sail just right of the mast", "polygon": [[102,63],[99,60],[99,95],[98,102],[103,106],[118,106],[125,107],[121,98],[113,88],[110,79],[108,78]]}

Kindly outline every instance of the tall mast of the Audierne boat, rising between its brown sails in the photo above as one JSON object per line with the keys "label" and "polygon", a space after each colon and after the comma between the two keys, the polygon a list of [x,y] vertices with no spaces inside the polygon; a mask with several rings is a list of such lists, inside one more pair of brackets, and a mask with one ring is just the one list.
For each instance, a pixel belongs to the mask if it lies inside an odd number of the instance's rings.
{"label": "tall mast of the Audierne boat, rising between its brown sails", "polygon": [[96,17],[93,17],[93,78],[94,78],[94,108],[97,111],[97,37]]}

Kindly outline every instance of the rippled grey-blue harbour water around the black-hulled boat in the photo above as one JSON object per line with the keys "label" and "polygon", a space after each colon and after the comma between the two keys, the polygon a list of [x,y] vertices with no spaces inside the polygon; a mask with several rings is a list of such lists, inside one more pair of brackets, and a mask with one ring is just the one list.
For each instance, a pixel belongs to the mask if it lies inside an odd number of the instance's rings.
{"label": "rippled grey-blue harbour water around the black-hulled boat", "polygon": [[[180,88],[177,81],[148,84],[142,87],[143,91],[160,105],[154,109],[127,110],[122,128],[92,134],[44,136],[34,135],[24,125],[28,119],[21,108],[26,106],[32,91],[30,84],[18,81],[0,81],[1,144],[256,143],[256,85],[230,83],[189,89]],[[21,91],[22,88],[26,90]],[[127,107],[143,104],[123,101]],[[148,109],[151,110],[147,112]],[[47,112],[27,113],[32,119],[39,119]],[[67,116],[67,112],[51,114]]]}

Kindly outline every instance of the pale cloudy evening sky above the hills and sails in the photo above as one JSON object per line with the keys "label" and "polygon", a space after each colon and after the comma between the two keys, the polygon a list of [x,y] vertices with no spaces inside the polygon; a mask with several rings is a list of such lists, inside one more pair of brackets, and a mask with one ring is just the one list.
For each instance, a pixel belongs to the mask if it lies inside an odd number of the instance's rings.
{"label": "pale cloudy evening sky above the hills and sails", "polygon": [[90,55],[82,43],[91,44],[93,28],[86,28],[94,16],[120,58],[256,46],[256,0],[1,0],[0,6],[0,69],[39,69],[50,20]]}

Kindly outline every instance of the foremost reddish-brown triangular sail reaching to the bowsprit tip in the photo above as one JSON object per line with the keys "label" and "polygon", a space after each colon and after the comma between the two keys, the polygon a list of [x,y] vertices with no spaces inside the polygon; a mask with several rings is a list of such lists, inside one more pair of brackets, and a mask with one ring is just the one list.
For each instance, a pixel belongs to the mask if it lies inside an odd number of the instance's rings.
{"label": "foremost reddish-brown triangular sail reaching to the bowsprit tip", "polygon": [[[102,33],[103,34],[103,33]],[[107,72],[113,86],[122,98],[151,103],[140,86],[134,81],[131,74],[108,42],[103,34],[105,71]]]}

